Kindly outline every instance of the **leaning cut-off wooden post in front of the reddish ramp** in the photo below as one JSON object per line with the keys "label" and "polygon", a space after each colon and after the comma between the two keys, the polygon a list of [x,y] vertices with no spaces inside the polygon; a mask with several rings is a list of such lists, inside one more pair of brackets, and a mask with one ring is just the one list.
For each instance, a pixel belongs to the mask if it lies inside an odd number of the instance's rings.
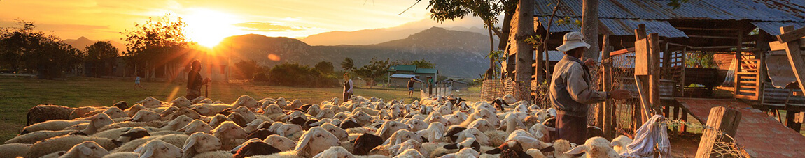
{"label": "leaning cut-off wooden post in front of the reddish ramp", "polygon": [[721,132],[735,138],[738,124],[741,123],[741,112],[734,108],[712,107],[708,116],[707,126],[702,133],[696,158],[722,157],[712,155],[716,142],[733,142],[727,136],[720,136]]}

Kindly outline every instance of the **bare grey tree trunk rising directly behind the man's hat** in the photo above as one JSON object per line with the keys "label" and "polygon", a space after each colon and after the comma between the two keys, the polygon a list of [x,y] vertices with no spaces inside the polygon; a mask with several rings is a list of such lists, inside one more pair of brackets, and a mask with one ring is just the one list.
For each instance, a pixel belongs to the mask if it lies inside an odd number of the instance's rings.
{"label": "bare grey tree trunk rising directly behind the man's hat", "polygon": [[584,34],[584,42],[590,44],[590,49],[584,52],[584,58],[598,59],[601,51],[598,48],[598,0],[584,0],[581,13],[581,33]]}

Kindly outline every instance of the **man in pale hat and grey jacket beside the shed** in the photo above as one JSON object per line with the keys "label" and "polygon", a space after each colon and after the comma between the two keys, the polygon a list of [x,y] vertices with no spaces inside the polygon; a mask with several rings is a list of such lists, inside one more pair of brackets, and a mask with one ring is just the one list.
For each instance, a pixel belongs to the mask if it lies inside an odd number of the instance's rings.
{"label": "man in pale hat and grey jacket beside the shed", "polygon": [[551,79],[550,99],[556,109],[556,135],[558,139],[575,144],[584,144],[587,140],[588,103],[631,97],[629,91],[592,89],[588,65],[596,62],[592,59],[581,62],[584,51],[589,48],[580,32],[564,34],[564,43],[556,47],[557,51],[564,52],[564,58],[556,63]]}

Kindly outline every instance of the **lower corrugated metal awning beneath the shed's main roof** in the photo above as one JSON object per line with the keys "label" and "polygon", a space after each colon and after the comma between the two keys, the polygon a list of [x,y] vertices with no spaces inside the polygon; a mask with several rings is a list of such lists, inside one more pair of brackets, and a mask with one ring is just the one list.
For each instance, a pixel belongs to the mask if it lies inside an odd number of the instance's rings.
{"label": "lower corrugated metal awning beneath the shed's main roof", "polygon": [[[538,21],[535,22],[547,24],[551,17],[537,18]],[[574,23],[564,23],[558,25],[558,23],[555,21],[559,18],[560,17],[554,17],[554,22],[551,23],[551,32],[581,31],[581,27],[576,26]],[[581,21],[580,18],[569,18],[570,22],[576,22],[576,20]],[[638,28],[638,25],[645,24],[646,32],[649,34],[657,33],[659,36],[668,38],[687,38],[687,34],[685,34],[685,32],[674,28],[674,26],[671,26],[671,23],[666,21],[619,18],[601,18],[600,20],[601,23],[607,26],[609,31],[612,32],[610,35],[634,35],[634,30]]]}

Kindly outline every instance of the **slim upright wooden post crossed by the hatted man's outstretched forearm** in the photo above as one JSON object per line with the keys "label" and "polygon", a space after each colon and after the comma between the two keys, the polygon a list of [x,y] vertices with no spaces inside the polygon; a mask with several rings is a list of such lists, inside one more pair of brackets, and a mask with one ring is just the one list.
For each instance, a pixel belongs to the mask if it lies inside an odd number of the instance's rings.
{"label": "slim upright wooden post crossed by the hatted man's outstretched forearm", "polygon": [[[601,46],[603,49],[601,50],[601,90],[603,91],[612,91],[612,59],[609,59],[609,52],[613,50],[612,47],[609,46],[609,35],[604,35],[604,40],[601,42]],[[613,127],[613,119],[616,118],[616,115],[613,112],[613,102],[612,101],[605,101],[600,103],[599,107],[603,110],[603,112],[599,112],[599,117],[601,121],[599,121],[599,127],[604,130],[604,136],[607,138],[613,138],[615,136],[615,128]]]}

